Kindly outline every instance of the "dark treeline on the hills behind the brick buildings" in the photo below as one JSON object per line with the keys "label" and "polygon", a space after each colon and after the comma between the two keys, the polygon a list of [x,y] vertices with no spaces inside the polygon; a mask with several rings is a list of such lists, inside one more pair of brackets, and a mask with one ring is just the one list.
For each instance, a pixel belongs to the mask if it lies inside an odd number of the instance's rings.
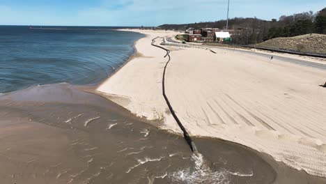
{"label": "dark treeline on the hills behind the brick buildings", "polygon": [[[233,29],[233,43],[249,45],[261,43],[277,37],[299,36],[306,33],[326,34],[326,8],[317,13],[312,11],[294,15],[282,15],[279,20],[260,20],[254,18],[235,17],[228,21],[229,29]],[[199,22],[194,24],[164,24],[162,29],[185,30],[204,27],[225,29],[226,20],[216,22]]]}

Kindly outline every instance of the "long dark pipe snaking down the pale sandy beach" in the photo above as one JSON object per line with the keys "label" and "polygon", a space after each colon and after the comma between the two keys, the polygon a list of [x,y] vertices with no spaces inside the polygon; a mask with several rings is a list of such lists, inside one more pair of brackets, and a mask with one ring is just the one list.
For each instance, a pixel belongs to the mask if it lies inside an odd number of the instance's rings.
{"label": "long dark pipe snaking down the pale sandy beach", "polygon": [[183,126],[183,123],[180,122],[178,116],[176,116],[176,112],[174,112],[172,106],[171,106],[171,103],[169,101],[169,98],[167,98],[166,96],[166,93],[165,93],[165,71],[166,71],[166,67],[169,65],[169,62],[171,61],[171,56],[170,56],[170,50],[169,49],[166,49],[164,47],[161,47],[159,45],[155,45],[155,40],[159,38],[159,37],[156,37],[152,40],[152,43],[151,45],[153,45],[154,47],[158,47],[160,49],[164,49],[166,51],[166,55],[164,56],[164,58],[166,56],[169,56],[169,60],[166,62],[165,66],[164,66],[164,72],[163,72],[163,79],[162,79],[162,91],[163,91],[163,96],[164,96],[164,99],[166,101],[166,104],[168,105],[169,107],[169,110],[173,116],[173,118],[176,120],[176,122],[178,123],[179,127],[181,128],[181,130],[183,131],[183,136],[185,137],[186,141],[187,141],[187,144],[189,144],[190,148],[192,149],[192,152],[194,153],[198,153],[197,151],[197,148],[196,148],[196,145],[194,144],[194,141],[192,141],[192,138],[189,136],[187,130],[185,130],[185,127]]}

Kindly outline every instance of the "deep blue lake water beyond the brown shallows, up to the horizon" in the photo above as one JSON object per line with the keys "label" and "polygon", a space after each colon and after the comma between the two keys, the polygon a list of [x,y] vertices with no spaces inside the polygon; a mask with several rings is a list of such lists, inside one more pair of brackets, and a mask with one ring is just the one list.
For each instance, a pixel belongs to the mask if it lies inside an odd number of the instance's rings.
{"label": "deep blue lake water beyond the brown shallows, up to the horizon", "polygon": [[[38,27],[40,28],[40,27]],[[96,84],[143,35],[112,27],[0,26],[0,93],[38,84]]]}

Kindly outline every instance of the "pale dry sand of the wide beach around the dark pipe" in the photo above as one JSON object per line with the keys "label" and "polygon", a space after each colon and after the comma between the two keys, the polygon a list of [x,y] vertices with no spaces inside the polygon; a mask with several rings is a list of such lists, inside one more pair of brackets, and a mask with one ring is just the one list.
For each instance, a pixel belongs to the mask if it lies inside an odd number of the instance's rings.
{"label": "pale dry sand of the wide beach around the dark pipe", "polygon": [[[136,43],[137,56],[97,91],[179,133],[162,97],[165,52],[150,45],[174,33],[139,32],[147,37]],[[234,141],[326,177],[324,70],[224,49],[168,48],[166,95],[190,135]]]}

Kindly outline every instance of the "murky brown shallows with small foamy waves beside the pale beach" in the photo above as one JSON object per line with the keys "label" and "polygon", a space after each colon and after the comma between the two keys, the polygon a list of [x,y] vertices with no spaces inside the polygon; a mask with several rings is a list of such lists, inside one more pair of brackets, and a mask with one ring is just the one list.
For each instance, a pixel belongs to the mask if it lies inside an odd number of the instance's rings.
{"label": "murky brown shallows with small foamy waves beside the pale beach", "polygon": [[1,183],[325,183],[244,146],[178,135],[68,84],[0,95]]}

